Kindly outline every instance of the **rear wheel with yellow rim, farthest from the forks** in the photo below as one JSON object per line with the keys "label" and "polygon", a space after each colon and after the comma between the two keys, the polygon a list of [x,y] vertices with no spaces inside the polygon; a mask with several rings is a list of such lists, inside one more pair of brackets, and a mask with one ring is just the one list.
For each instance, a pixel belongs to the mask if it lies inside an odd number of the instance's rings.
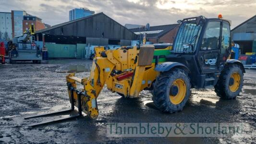
{"label": "rear wheel with yellow rim, farthest from the forks", "polygon": [[217,96],[222,99],[234,99],[242,90],[244,73],[239,65],[232,64],[221,72],[214,86]]}

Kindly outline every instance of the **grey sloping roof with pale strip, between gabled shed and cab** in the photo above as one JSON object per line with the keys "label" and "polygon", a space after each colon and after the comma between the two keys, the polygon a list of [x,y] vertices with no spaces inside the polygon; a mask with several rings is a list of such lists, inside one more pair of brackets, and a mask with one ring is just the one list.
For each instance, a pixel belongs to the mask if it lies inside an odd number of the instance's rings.
{"label": "grey sloping roof with pale strip, between gabled shed and cab", "polygon": [[167,24],[167,25],[158,25],[158,26],[150,26],[149,31],[146,31],[144,28],[133,28],[130,29],[134,34],[139,35],[139,33],[146,33],[147,37],[161,37],[164,34],[171,31],[173,28],[177,27],[179,24]]}

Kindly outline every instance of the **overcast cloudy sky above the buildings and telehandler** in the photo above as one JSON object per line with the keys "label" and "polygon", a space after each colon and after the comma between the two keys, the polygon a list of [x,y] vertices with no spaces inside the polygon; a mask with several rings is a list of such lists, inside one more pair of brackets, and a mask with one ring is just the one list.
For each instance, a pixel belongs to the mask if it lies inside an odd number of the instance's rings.
{"label": "overcast cloudy sky above the buildings and telehandler", "polygon": [[0,12],[24,10],[50,25],[69,20],[69,10],[104,12],[120,24],[174,24],[204,15],[232,21],[232,28],[256,15],[256,0],[0,0]]}

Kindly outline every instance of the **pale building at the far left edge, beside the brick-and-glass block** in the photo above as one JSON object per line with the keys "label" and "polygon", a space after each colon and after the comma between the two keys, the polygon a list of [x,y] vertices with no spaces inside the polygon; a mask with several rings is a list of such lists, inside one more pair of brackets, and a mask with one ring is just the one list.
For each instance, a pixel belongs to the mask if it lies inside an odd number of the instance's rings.
{"label": "pale building at the far left edge, beside the brick-and-glass block", "polygon": [[0,12],[0,39],[12,40],[11,12]]}

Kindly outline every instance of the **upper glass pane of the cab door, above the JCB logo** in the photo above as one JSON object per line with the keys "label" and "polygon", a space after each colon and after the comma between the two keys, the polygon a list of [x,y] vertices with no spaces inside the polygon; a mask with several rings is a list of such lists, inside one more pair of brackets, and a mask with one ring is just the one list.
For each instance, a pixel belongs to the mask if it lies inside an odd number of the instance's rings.
{"label": "upper glass pane of the cab door, above the JCB logo", "polygon": [[201,50],[219,48],[220,22],[209,22],[203,37]]}

